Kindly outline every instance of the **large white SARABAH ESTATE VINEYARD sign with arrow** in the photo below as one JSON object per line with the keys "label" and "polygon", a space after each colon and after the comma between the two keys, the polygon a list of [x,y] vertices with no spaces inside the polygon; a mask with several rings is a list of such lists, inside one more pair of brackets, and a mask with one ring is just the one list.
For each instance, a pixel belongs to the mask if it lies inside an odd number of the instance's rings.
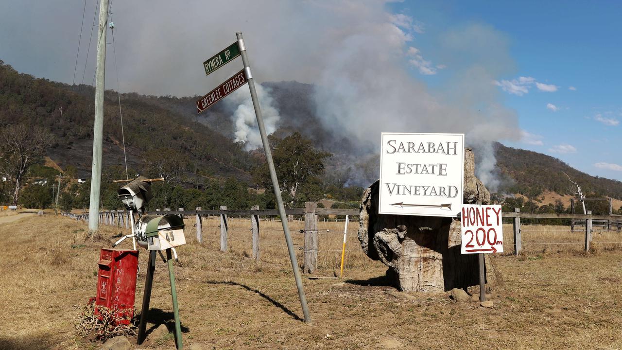
{"label": "large white SARABAH ESTATE VINEYARD sign with arrow", "polygon": [[456,217],[464,134],[382,133],[379,214]]}

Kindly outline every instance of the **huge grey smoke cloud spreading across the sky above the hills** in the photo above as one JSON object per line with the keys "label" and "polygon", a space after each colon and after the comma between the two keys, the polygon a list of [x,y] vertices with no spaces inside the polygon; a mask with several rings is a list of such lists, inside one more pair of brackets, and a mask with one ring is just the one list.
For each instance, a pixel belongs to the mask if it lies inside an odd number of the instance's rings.
{"label": "huge grey smoke cloud spreading across the sky above the hills", "polygon": [[[86,7],[78,72],[94,2]],[[0,11],[0,59],[17,70],[71,82],[82,4],[6,4],[7,11]],[[467,143],[479,151],[478,176],[494,190],[491,142],[519,137],[516,114],[503,106],[493,85],[514,73],[509,40],[490,26],[451,24],[434,31],[426,18],[392,13],[388,2],[373,0],[114,1],[111,10],[123,92],[207,93],[238,72],[241,60],[208,77],[203,60],[243,31],[255,80],[314,84],[321,123],[355,143],[359,159],[378,153],[381,131],[466,133]],[[435,45],[420,47],[424,35]],[[90,55],[86,77],[93,76],[92,47]],[[106,65],[113,72],[111,55]],[[431,73],[436,75],[424,75]],[[108,74],[106,87],[116,89],[114,74]],[[235,137],[252,147],[258,143],[244,96],[245,87],[227,99],[239,102],[231,115]],[[279,116],[270,99],[264,92],[262,108],[272,129]]]}

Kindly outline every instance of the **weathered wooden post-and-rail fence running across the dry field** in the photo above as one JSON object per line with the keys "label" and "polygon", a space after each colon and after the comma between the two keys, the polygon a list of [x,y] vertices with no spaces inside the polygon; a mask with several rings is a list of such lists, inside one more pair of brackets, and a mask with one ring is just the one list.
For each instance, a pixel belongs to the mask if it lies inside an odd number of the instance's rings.
{"label": "weathered wooden post-and-rail fence running across the dry field", "polygon": [[[155,211],[147,212],[147,214],[176,214],[182,217],[195,217],[197,228],[197,240],[199,243],[203,242],[203,217],[208,215],[220,217],[220,250],[227,251],[228,247],[228,231],[230,226],[228,224],[229,216],[237,217],[249,217],[251,219],[251,232],[252,232],[252,257],[255,260],[259,260],[259,216],[277,216],[279,211],[276,209],[258,209],[258,206],[253,206],[250,210],[230,210],[226,206],[221,206],[219,210],[202,210],[198,207],[196,210],[184,210],[179,208],[177,210],[170,210],[166,208],[162,211],[156,209]],[[306,273],[313,273],[317,268],[317,254],[318,252],[328,252],[329,250],[318,250],[318,234],[326,234],[327,232],[318,232],[318,215],[350,215],[351,217],[358,216],[360,214],[358,209],[327,209],[317,208],[315,202],[306,203],[304,208],[286,209],[285,214],[289,215],[304,215],[304,229],[300,230],[304,234],[304,263],[303,271]],[[88,220],[88,213],[85,214],[70,214],[63,213],[67,217],[71,217],[76,220]],[[117,225],[119,227],[126,227],[129,229],[131,222],[131,213],[123,210],[109,210],[99,212],[100,222],[104,225]],[[520,212],[518,208],[514,209],[514,212],[503,212],[503,217],[513,219],[513,235],[514,235],[514,254],[521,253],[522,245],[534,245],[537,243],[523,243],[521,239],[521,219],[570,219],[572,225],[570,231],[573,232],[575,221],[579,225],[579,222],[585,227],[585,239],[583,242],[560,242],[559,244],[582,244],[585,251],[590,250],[592,244],[592,231],[593,222],[601,221],[606,222],[608,227],[617,227],[618,230],[622,229],[622,215],[592,215],[592,212],[588,211],[587,214],[536,214],[536,213],[524,213]],[[298,230],[295,230],[298,231]],[[332,233],[332,232],[328,232]],[[337,233],[337,232],[335,232]],[[603,243],[603,242],[600,242]],[[617,242],[613,242],[617,243]],[[267,243],[266,243],[267,244]],[[542,243],[547,244],[547,243]],[[337,250],[335,250],[337,251]]]}

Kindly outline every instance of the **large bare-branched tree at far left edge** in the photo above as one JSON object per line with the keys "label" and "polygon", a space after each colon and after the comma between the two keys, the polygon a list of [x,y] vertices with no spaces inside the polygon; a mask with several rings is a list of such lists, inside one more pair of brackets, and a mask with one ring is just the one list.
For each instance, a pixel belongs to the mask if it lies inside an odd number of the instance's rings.
{"label": "large bare-branched tree at far left edge", "polygon": [[51,143],[47,131],[24,124],[7,126],[0,132],[0,174],[14,184],[13,205],[17,206],[19,191],[24,185],[26,171],[37,158],[44,155]]}

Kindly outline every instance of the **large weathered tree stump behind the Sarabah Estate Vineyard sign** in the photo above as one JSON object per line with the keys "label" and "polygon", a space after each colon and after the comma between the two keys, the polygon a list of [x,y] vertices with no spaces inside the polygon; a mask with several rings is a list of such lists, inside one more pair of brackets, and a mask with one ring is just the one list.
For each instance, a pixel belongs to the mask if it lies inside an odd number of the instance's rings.
{"label": "large weathered tree stump behind the Sarabah Estate Vineyard sign", "polygon": [[[475,177],[475,158],[465,149],[465,204],[487,204],[490,192]],[[387,275],[403,291],[443,292],[479,284],[476,254],[460,253],[459,219],[378,214],[379,181],[363,193],[358,239],[364,253],[389,267]],[[496,283],[486,256],[486,281]]]}

